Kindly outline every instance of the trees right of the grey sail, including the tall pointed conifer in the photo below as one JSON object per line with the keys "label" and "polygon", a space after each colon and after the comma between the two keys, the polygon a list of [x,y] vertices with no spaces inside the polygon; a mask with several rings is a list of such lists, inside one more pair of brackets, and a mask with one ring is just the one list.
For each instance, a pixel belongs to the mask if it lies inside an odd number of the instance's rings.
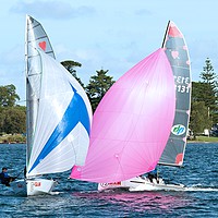
{"label": "trees right of the grey sail, including the tall pointed conifer", "polygon": [[199,82],[192,83],[190,129],[194,135],[218,124],[218,76],[209,58],[199,78]]}

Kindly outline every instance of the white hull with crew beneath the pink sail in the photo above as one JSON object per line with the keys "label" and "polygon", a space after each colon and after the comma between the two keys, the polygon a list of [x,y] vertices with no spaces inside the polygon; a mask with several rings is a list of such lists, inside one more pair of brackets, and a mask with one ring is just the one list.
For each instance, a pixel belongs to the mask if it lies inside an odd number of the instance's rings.
{"label": "white hull with crew beneath the pink sail", "polygon": [[159,179],[159,183],[154,180],[150,182],[147,178],[136,177],[130,180],[114,183],[99,183],[98,191],[113,190],[113,189],[129,189],[131,192],[140,191],[184,191],[185,187],[182,184],[166,184],[162,179]]}

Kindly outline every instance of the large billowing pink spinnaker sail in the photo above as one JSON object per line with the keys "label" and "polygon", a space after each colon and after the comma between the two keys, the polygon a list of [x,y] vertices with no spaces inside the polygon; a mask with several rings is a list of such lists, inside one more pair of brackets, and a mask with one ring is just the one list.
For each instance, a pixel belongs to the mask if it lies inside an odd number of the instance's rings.
{"label": "large billowing pink spinnaker sail", "polygon": [[174,118],[175,93],[166,53],[158,49],[107,92],[93,120],[84,167],[71,178],[117,182],[153,170]]}

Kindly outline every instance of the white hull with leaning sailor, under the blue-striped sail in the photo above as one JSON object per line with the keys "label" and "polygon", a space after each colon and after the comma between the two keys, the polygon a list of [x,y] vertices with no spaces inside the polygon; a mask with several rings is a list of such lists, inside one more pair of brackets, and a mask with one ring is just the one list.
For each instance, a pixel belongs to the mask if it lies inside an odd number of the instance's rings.
{"label": "white hull with leaning sailor, under the blue-striped sail", "polygon": [[11,187],[15,194],[33,196],[51,194],[56,184],[55,180],[34,178],[11,182]]}

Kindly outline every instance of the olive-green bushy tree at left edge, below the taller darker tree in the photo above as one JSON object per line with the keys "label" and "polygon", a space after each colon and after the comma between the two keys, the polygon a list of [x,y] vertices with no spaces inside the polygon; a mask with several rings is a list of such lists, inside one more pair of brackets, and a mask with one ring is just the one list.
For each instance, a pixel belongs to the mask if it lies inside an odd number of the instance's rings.
{"label": "olive-green bushy tree at left edge, below the taller darker tree", "polygon": [[0,132],[8,134],[26,132],[26,112],[25,107],[15,106],[1,110]]}

